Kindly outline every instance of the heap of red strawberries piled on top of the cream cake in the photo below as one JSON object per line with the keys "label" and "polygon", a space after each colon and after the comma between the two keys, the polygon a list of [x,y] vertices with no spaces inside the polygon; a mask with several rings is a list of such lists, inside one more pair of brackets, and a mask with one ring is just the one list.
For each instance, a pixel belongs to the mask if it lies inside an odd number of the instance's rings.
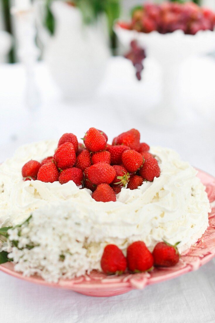
{"label": "heap of red strawberries piled on top of the cream cake", "polygon": [[157,160],[149,152],[149,145],[140,142],[140,132],[131,129],[107,143],[107,135],[90,128],[78,143],[73,133],[64,133],[54,156],[41,162],[30,160],[22,168],[24,180],[42,182],[73,181],[80,188],[88,188],[98,202],[116,201],[122,187],[137,189],[143,181],[160,176]]}

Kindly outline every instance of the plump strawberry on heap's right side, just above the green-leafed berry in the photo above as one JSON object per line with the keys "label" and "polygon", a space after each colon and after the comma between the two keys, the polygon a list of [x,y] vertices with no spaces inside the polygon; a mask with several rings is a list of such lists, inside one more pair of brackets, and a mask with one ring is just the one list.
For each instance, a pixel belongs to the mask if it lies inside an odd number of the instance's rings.
{"label": "plump strawberry on heap's right side, just above the green-leafed berry", "polygon": [[141,154],[135,150],[126,150],[122,153],[122,162],[128,172],[134,173],[141,168],[143,158]]}

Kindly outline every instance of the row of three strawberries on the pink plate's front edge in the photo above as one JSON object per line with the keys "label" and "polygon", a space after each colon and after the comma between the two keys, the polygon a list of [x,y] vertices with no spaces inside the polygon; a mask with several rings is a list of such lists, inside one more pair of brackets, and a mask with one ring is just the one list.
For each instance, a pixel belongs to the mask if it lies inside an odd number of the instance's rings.
{"label": "row of three strawberries on the pink plate's front edge", "polygon": [[144,242],[136,241],[128,246],[127,256],[116,245],[107,245],[101,259],[101,267],[105,274],[124,273],[126,268],[130,272],[151,271],[153,266],[170,267],[179,261],[179,252],[175,245],[166,241],[159,242],[151,253]]}

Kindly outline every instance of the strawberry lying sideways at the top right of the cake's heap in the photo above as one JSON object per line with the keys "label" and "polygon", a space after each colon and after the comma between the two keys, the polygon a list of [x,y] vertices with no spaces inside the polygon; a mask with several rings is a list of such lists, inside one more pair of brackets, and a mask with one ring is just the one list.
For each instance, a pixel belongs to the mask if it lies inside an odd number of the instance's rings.
{"label": "strawberry lying sideways at the top right of the cake's heap", "polygon": [[118,137],[114,138],[113,145],[124,145],[131,149],[138,150],[140,147],[140,132],[136,129],[121,133]]}

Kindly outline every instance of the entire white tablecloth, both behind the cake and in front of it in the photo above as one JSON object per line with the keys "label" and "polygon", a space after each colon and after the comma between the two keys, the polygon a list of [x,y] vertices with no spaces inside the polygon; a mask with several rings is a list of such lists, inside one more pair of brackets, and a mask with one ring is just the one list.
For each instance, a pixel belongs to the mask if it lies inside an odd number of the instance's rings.
{"label": "entire white tablecloth, both behind the cake and in front of it", "polygon": [[[19,64],[0,67],[0,161],[23,143],[59,138],[73,132],[79,138],[89,127],[104,130],[111,139],[137,128],[142,141],[177,150],[184,160],[215,175],[215,62],[201,58],[182,70],[184,97],[191,118],[180,127],[162,127],[145,120],[158,98],[159,70],[146,60],[143,81],[133,77],[130,62],[110,60],[98,94],[91,100],[64,102],[43,63],[36,67],[42,106],[29,111],[24,104],[25,74]],[[85,322],[214,322],[215,261],[192,272],[144,290],[93,298],[67,290],[36,286],[0,273],[0,317],[4,323]]]}

